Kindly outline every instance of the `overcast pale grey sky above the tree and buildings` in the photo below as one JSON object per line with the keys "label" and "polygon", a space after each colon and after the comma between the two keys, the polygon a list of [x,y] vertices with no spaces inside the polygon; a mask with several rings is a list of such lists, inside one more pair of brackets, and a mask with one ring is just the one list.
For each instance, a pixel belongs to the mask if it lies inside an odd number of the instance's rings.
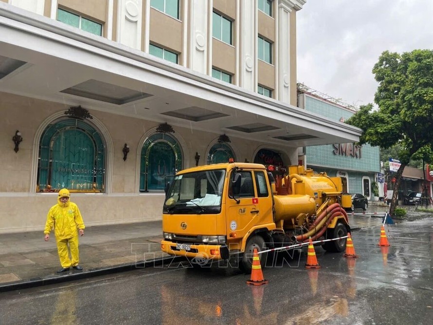
{"label": "overcast pale grey sky above the tree and buildings", "polygon": [[383,51],[433,49],[433,0],[307,0],[297,13],[297,80],[350,105],[374,101]]}

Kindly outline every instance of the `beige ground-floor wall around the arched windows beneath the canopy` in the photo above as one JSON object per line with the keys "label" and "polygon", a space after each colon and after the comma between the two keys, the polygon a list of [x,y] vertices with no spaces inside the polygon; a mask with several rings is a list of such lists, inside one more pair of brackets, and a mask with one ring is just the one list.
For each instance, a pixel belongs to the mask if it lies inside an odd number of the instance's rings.
{"label": "beige ground-floor wall around the arched windows beneath the canopy", "polygon": [[[32,177],[36,177],[36,160],[41,133],[41,125],[53,115],[65,112],[69,106],[35,98],[0,93],[0,233],[42,230],[46,214],[56,203],[56,193],[36,193],[31,188]],[[108,193],[72,193],[71,200],[78,204],[85,224],[109,225],[141,221],[161,220],[164,194],[162,191],[139,193],[138,175],[140,170],[140,147],[144,136],[154,130],[159,123],[101,111],[89,110],[108,131],[107,142],[112,143],[111,191]],[[26,118],[22,118],[26,116]],[[90,120],[92,123],[93,120]],[[93,123],[94,124],[94,123]],[[194,155],[200,153],[199,164],[206,163],[212,143],[219,134],[211,134],[190,128],[173,127],[182,152],[182,168],[195,166]],[[12,136],[19,130],[23,141],[15,153]],[[151,134],[151,132],[150,132]],[[40,135],[39,135],[40,136]],[[122,148],[128,144],[130,151],[123,160]],[[244,139],[231,138],[228,144],[234,151],[237,161],[254,159],[257,145]],[[191,148],[191,149],[189,149]],[[277,150],[284,151],[284,148]],[[36,181],[36,179],[34,180]],[[20,216],[11,218],[10,216]]]}

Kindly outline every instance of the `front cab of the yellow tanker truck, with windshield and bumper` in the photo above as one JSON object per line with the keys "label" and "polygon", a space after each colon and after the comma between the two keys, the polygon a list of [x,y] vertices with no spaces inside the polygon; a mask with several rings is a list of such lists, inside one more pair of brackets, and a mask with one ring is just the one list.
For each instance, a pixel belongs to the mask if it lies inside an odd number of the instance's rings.
{"label": "front cab of the yellow tanker truck, with windshield and bumper", "polygon": [[251,163],[179,172],[166,192],[162,250],[197,261],[227,260],[244,250],[250,233],[275,229],[268,177],[263,165]]}

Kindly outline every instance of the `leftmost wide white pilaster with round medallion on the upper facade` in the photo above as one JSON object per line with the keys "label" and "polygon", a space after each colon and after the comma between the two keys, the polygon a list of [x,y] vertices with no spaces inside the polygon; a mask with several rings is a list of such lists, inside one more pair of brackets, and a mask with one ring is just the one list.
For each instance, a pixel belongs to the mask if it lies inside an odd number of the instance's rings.
{"label": "leftmost wide white pilaster with round medallion on the upper facade", "polygon": [[141,50],[142,0],[119,0],[118,42]]}

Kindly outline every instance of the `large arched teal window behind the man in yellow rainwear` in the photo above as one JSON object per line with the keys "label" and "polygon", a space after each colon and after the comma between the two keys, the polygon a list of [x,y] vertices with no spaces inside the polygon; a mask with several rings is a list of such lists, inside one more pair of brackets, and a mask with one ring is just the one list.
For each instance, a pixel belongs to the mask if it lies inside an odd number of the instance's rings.
{"label": "large arched teal window behind the man in yellow rainwear", "polygon": [[106,147],[99,132],[84,121],[68,118],[50,124],[39,142],[36,191],[104,192]]}

